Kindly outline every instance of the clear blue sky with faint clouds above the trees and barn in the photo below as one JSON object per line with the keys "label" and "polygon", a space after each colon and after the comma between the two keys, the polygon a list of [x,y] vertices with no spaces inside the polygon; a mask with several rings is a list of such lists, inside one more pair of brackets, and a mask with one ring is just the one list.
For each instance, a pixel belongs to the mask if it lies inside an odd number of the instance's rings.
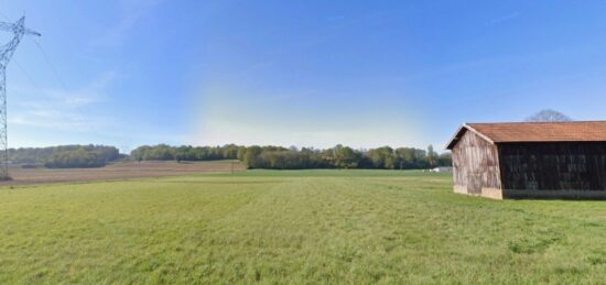
{"label": "clear blue sky with faint clouds above the trees and barn", "polygon": [[[9,143],[442,149],[606,119],[605,1],[7,1]],[[2,42],[8,41],[4,33]],[[48,63],[50,62],[50,63]]]}

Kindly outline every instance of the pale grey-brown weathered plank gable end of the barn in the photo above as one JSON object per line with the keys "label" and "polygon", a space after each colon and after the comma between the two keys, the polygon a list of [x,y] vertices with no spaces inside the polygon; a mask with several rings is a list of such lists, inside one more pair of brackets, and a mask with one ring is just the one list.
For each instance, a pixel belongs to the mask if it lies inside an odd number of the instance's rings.
{"label": "pale grey-brown weathered plank gable end of the barn", "polygon": [[501,185],[496,145],[474,132],[467,131],[453,147],[452,153],[455,191],[500,196]]}

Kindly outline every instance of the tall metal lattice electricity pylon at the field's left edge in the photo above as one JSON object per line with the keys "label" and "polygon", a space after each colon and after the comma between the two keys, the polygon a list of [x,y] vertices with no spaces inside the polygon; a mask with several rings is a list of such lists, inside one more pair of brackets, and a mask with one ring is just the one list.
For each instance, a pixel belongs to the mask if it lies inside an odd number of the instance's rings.
{"label": "tall metal lattice electricity pylon at the field's left edge", "polygon": [[7,134],[7,65],[24,34],[41,36],[40,33],[25,28],[25,17],[15,23],[0,22],[0,31],[12,32],[12,40],[0,46],[0,180],[9,176],[9,140]]}

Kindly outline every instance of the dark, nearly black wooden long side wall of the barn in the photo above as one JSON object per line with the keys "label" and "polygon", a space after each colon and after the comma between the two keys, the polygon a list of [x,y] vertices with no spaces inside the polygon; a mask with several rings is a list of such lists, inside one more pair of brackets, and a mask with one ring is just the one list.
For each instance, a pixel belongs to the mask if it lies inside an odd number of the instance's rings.
{"label": "dark, nearly black wooden long side wall of the barn", "polygon": [[502,188],[510,194],[606,194],[606,142],[504,143],[498,152]]}

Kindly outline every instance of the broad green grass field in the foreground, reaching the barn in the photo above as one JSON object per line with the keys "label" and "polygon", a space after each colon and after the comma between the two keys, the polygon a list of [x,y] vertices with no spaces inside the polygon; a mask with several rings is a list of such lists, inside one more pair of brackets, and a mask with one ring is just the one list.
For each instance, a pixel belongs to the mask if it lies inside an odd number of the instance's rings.
{"label": "broad green grass field in the foreground, reaching the barn", "polygon": [[251,171],[0,190],[0,283],[603,283],[606,204]]}

